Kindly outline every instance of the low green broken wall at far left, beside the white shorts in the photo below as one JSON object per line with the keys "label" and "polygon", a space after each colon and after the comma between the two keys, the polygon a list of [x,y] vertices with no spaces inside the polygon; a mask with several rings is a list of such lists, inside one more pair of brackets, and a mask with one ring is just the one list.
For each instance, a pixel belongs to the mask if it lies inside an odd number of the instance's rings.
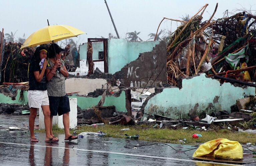
{"label": "low green broken wall at far left, beside the white shorts", "polygon": [[18,89],[18,91],[17,91],[17,96],[16,96],[15,100],[12,100],[11,97],[5,96],[4,94],[0,93],[0,103],[7,103],[7,104],[12,104],[12,103],[27,104],[27,103],[28,103],[28,98],[27,98],[28,91],[24,91],[24,92],[23,92],[24,99],[23,99],[23,100],[19,100],[19,98],[20,98],[20,91],[21,91],[21,90]]}

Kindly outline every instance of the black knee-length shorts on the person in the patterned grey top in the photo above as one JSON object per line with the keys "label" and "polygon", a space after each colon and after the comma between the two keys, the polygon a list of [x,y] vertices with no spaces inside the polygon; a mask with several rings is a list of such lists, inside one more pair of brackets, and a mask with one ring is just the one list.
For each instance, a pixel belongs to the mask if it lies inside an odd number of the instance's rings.
{"label": "black knee-length shorts on the person in the patterned grey top", "polygon": [[51,111],[51,116],[63,115],[67,112],[70,112],[69,107],[69,99],[67,97],[67,94],[62,97],[56,97],[56,96],[48,96],[49,97],[49,106]]}

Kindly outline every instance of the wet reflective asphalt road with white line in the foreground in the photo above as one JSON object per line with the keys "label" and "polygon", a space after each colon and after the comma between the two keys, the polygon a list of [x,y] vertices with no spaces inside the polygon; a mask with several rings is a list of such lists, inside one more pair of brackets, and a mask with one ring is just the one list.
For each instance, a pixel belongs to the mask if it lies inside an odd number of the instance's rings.
{"label": "wet reflective asphalt road with white line in the foreground", "polygon": [[[45,143],[45,134],[36,133],[39,142],[30,143],[29,132],[5,130],[13,126],[11,124],[26,127],[28,116],[0,115],[0,165],[227,165],[195,161],[189,158],[195,150],[178,153],[166,145],[124,148],[125,145],[152,144],[129,139],[84,137],[64,141],[64,134],[56,133],[58,143]],[[169,145],[182,151],[195,148]]]}

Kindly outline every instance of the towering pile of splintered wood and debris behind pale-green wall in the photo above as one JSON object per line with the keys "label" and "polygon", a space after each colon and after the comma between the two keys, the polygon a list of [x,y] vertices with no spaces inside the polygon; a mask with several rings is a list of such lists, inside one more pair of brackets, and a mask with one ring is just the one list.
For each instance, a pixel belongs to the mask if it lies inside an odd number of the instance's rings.
{"label": "towering pile of splintered wood and debris behind pale-green wall", "polygon": [[207,6],[189,21],[170,19],[182,25],[172,33],[167,45],[168,83],[178,86],[179,78],[199,72],[255,81],[256,16],[244,11],[213,20],[217,4],[210,19],[202,22]]}

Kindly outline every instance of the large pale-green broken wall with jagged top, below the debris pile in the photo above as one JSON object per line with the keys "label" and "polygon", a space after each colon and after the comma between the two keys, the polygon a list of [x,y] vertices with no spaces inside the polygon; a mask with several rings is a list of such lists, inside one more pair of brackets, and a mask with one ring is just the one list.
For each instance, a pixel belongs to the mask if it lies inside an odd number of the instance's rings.
{"label": "large pale-green broken wall with jagged top, below the debris pile", "polygon": [[163,92],[149,99],[145,112],[184,119],[189,118],[189,111],[194,110],[198,111],[198,116],[222,110],[230,113],[230,106],[244,95],[255,95],[255,88],[243,89],[230,83],[220,85],[218,80],[200,74],[191,79],[183,79],[181,89],[164,88]]}

